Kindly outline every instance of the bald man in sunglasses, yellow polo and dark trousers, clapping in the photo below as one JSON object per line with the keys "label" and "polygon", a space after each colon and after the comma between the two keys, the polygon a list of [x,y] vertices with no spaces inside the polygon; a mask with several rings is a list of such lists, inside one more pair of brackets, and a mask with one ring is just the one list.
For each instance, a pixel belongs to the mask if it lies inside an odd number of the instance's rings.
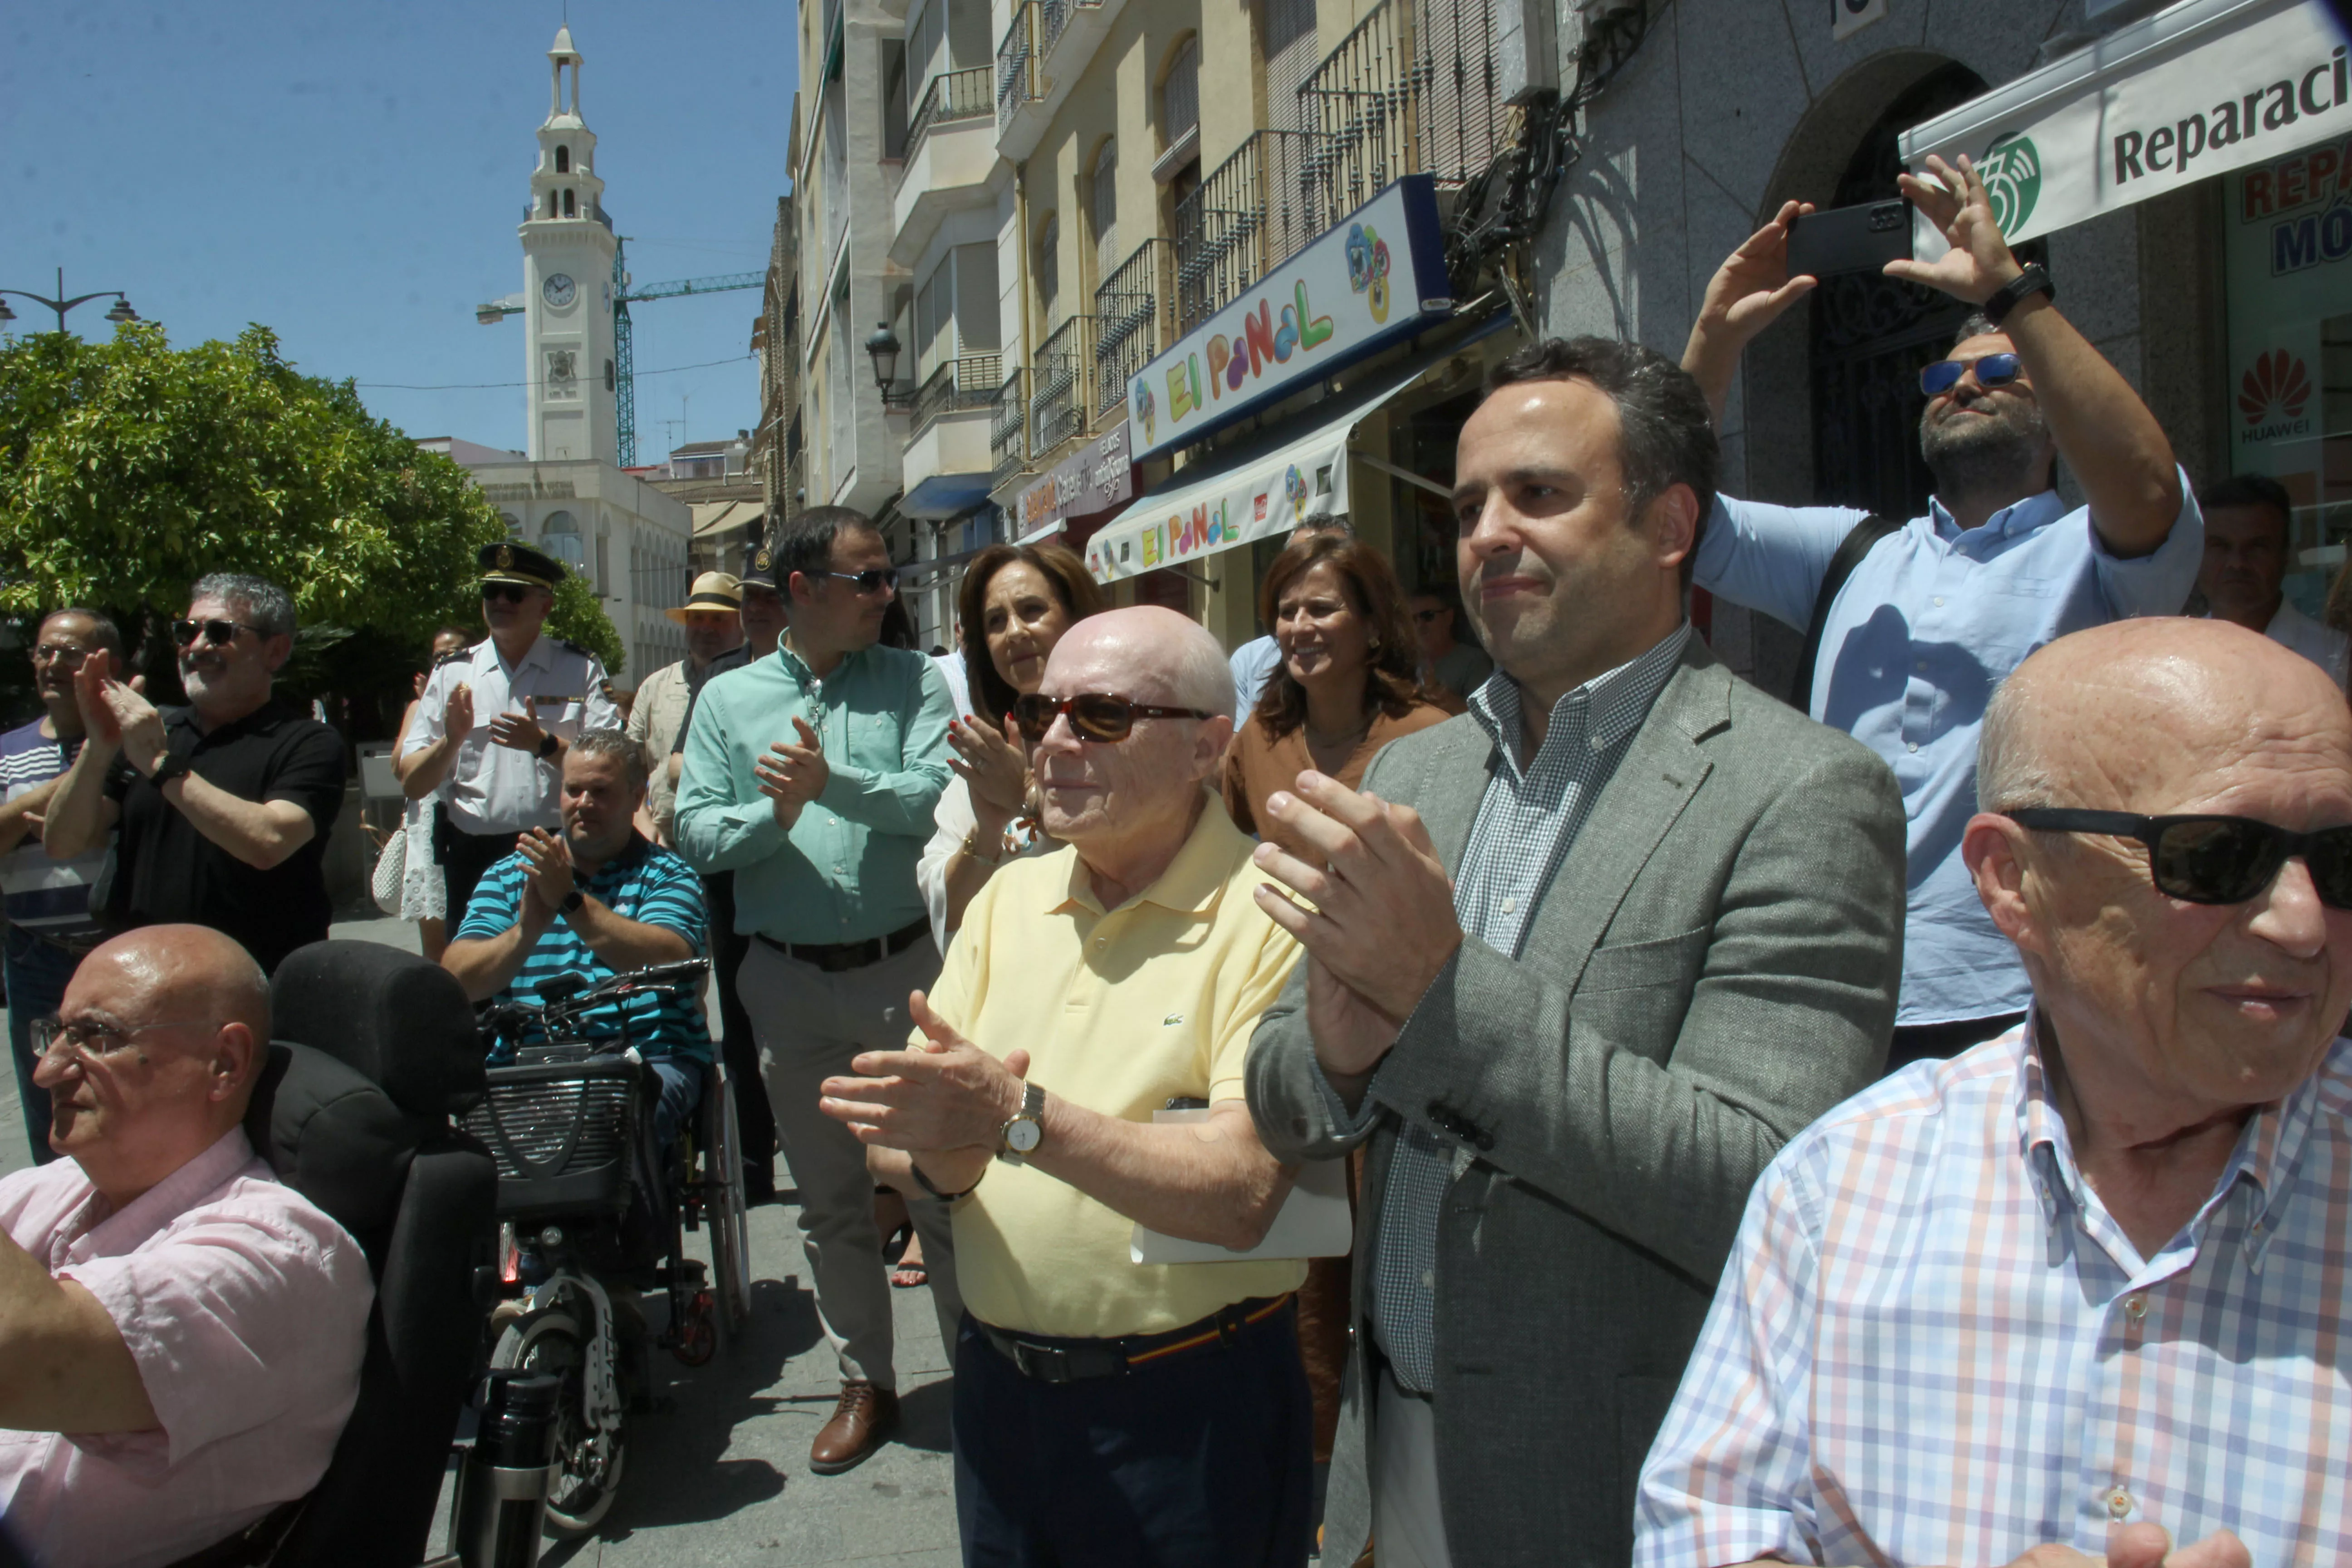
{"label": "bald man in sunglasses, yellow polo and dark trousers, clapping", "polygon": [[[1291,1175],[1242,1056],[1298,961],[1211,788],[1232,677],[1167,609],[1080,621],[1014,705],[1044,830],[971,900],[908,1051],[823,1084],[903,1192],[953,1199],[964,1563],[1275,1568],[1308,1554],[1305,1265],[1129,1260],[1134,1225],[1256,1246]],[[1204,1117],[1155,1121],[1190,1103]]]}

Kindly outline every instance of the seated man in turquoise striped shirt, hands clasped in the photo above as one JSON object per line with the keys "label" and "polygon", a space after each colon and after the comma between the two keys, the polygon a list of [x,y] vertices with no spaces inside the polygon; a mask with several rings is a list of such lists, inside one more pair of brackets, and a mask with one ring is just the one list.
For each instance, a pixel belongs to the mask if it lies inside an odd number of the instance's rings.
{"label": "seated man in turquoise striped shirt, hands clasped", "polygon": [[[644,748],[590,729],[564,752],[562,835],[527,830],[482,872],[442,969],[473,1001],[532,1001],[555,976],[590,985],[649,964],[701,957],[703,886],[684,860],[637,832]],[[654,1131],[668,1145],[703,1093],[710,1030],[684,997],[630,997],[588,1013],[588,1034],[628,1041],[661,1074]]]}

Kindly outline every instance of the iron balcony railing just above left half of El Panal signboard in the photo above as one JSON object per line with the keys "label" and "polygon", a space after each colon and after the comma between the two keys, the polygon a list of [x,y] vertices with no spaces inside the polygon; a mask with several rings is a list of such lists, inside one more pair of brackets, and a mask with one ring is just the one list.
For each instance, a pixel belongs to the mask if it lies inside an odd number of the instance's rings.
{"label": "iron balcony railing just above left half of El Panal signboard", "polygon": [[1256,132],[1176,205],[1176,329],[1192,331],[1338,216],[1315,132]]}

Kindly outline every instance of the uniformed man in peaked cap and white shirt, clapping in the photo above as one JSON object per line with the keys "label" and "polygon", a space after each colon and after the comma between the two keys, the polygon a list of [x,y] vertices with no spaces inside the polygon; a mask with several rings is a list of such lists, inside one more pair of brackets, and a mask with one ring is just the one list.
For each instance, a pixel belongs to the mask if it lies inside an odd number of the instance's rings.
{"label": "uniformed man in peaked cap and white shirt, clapping", "polygon": [[524,832],[562,827],[564,750],[623,724],[604,663],[543,630],[564,564],[513,541],[482,545],[480,562],[489,637],[433,665],[397,762],[409,799],[449,785],[433,851],[452,926]]}

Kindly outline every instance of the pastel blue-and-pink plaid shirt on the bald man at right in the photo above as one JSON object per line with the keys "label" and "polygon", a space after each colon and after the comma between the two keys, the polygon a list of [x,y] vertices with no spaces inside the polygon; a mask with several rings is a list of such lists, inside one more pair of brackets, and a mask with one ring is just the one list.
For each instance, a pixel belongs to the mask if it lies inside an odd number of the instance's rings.
{"label": "pastel blue-and-pink plaid shirt on the bald man at right", "polygon": [[2136,1521],[2343,1561],[2347,1112],[2338,1039],[2143,1262],[2030,1025],[1856,1095],[1750,1194],[1635,1563],[2006,1563]]}

